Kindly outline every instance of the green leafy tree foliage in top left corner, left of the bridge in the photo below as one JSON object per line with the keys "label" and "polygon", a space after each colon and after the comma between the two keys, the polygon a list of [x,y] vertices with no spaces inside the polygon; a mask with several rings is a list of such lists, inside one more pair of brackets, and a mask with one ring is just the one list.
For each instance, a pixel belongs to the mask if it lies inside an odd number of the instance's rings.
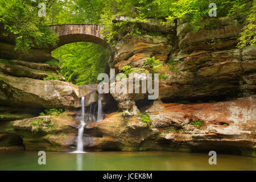
{"label": "green leafy tree foliage in top left corner, left of the bridge", "polygon": [[31,47],[56,44],[57,36],[48,28],[45,18],[38,16],[34,1],[0,0],[0,36],[14,37],[16,48],[27,51]]}

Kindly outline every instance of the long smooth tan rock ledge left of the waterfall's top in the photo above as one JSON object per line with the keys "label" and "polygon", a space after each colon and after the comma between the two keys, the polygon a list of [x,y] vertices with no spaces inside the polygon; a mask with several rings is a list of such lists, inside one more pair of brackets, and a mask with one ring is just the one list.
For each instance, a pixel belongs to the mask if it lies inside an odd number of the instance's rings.
{"label": "long smooth tan rock ledge left of the waterfall's top", "polygon": [[79,88],[59,80],[36,80],[0,73],[0,101],[5,106],[68,108],[79,106]]}

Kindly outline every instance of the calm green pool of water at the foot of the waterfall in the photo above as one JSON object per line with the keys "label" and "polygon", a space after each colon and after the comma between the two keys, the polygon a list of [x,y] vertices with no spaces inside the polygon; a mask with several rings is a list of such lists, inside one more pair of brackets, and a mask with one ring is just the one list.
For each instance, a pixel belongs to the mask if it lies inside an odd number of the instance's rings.
{"label": "calm green pool of water at the foot of the waterfall", "polygon": [[36,151],[0,151],[0,170],[255,170],[256,158],[217,154],[210,165],[204,153],[166,151],[46,152],[46,165]]}

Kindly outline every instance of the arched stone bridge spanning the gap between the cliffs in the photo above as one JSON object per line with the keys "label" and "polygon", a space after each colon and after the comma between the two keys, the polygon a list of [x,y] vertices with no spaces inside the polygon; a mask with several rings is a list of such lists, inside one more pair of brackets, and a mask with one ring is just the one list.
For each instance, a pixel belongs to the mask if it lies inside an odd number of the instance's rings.
{"label": "arched stone bridge spanning the gap between the cliffs", "polygon": [[[57,47],[72,42],[92,42],[110,49],[103,38],[101,31],[104,26],[100,24],[55,24],[49,26],[59,37]],[[55,48],[51,48],[52,50]]]}

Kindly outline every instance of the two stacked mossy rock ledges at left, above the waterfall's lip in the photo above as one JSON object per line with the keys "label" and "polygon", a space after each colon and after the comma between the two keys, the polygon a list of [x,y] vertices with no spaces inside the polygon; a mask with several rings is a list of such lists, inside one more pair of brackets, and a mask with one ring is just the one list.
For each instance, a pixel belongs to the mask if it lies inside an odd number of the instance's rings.
{"label": "two stacked mossy rock ledges at left, above the waterfall's lip", "polygon": [[47,109],[79,105],[79,88],[61,81],[65,78],[60,75],[59,67],[6,60],[0,63],[0,70],[1,105]]}

